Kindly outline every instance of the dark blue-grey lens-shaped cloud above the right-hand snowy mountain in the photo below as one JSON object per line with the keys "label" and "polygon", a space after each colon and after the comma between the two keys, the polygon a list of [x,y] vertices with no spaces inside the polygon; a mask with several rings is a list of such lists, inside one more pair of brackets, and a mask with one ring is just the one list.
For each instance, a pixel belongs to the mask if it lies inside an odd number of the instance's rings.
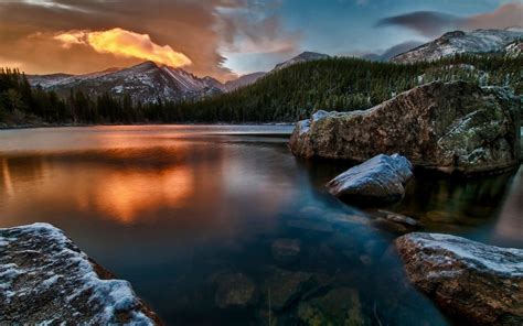
{"label": "dark blue-grey lens-shaped cloud above the right-hand snowy mountain", "polygon": [[458,17],[447,13],[415,11],[384,18],[376,23],[376,26],[401,26],[413,30],[424,36],[433,37],[440,35],[449,26],[456,26],[459,21]]}

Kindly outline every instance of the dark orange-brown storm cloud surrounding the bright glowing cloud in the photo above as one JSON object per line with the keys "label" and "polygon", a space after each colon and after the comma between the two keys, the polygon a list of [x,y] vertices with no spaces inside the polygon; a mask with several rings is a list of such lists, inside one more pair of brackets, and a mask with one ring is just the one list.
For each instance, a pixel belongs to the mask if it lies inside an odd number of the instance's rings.
{"label": "dark orange-brown storm cloud surrounding the bright glowing cloud", "polygon": [[[192,62],[186,68],[198,75],[227,78],[232,72],[222,65],[225,57],[220,48],[233,44],[231,40],[236,40],[242,31],[224,12],[235,13],[238,21],[237,17],[262,11],[260,6],[265,4],[255,0],[4,0],[0,1],[0,65],[18,64],[30,73],[85,73],[140,62],[99,53],[83,44],[61,46],[55,37],[75,31],[88,35],[118,28],[148,35],[151,44],[170,46],[186,55]],[[293,46],[279,20],[276,13],[268,21],[260,19],[258,29],[256,23],[250,26],[249,33],[254,34],[242,37],[257,40],[270,32],[269,41],[286,41]],[[223,25],[228,28],[220,28]]]}

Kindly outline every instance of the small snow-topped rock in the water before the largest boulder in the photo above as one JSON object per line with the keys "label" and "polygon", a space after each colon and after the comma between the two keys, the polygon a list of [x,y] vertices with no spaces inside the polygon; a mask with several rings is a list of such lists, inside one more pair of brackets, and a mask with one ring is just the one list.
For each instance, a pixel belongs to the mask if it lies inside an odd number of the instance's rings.
{"label": "small snow-topped rock in the water before the largest boulder", "polygon": [[327,184],[329,193],[354,203],[394,203],[405,195],[413,165],[402,155],[377,155]]}

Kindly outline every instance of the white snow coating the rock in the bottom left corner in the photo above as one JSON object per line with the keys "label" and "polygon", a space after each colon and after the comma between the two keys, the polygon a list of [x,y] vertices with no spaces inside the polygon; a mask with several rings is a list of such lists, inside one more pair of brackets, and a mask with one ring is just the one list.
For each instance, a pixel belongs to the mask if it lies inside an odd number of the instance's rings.
{"label": "white snow coating the rock in the bottom left corner", "polygon": [[[0,229],[0,235],[15,235],[19,239],[6,249],[6,236],[0,243],[4,253],[0,257],[0,297],[39,295],[50,287],[62,295],[64,308],[76,312],[78,302],[88,297],[89,309],[95,313],[96,324],[110,324],[117,320],[117,314],[122,311],[139,309],[140,302],[127,281],[100,280],[88,257],[57,228],[49,224],[33,224],[30,226]],[[42,244],[45,244],[42,247]],[[22,250],[13,249],[13,246]],[[39,252],[32,264],[24,263],[19,268],[10,260],[17,260],[19,254],[30,252],[28,247]],[[40,249],[42,248],[42,249]],[[24,257],[24,256],[22,256]],[[18,285],[13,286],[13,281]],[[24,286],[23,281],[28,279]],[[35,279],[39,281],[35,282]],[[22,283],[22,285],[20,285]],[[84,303],[85,304],[85,303]],[[36,307],[34,307],[36,308]],[[130,324],[152,325],[153,322],[145,314],[132,314]]]}

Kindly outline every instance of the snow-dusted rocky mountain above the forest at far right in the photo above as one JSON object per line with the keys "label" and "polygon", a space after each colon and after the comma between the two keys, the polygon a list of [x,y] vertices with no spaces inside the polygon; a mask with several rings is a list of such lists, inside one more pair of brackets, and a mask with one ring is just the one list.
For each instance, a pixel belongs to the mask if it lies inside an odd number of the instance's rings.
{"label": "snow-dusted rocky mountain above the forest at far right", "polygon": [[520,29],[453,31],[433,42],[402,53],[392,58],[395,63],[435,61],[461,53],[504,53],[505,46],[523,39]]}

